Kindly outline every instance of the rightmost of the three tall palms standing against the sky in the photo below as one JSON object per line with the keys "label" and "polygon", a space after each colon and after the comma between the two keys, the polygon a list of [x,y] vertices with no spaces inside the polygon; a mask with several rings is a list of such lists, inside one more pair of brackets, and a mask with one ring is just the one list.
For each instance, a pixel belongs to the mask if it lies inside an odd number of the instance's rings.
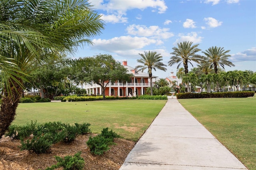
{"label": "rightmost of the three tall palms standing against the sky", "polygon": [[210,47],[205,51],[202,51],[204,55],[206,55],[206,58],[208,59],[208,63],[211,63],[211,65],[214,66],[214,72],[218,73],[218,67],[221,66],[224,69],[224,65],[227,66],[235,66],[230,61],[228,61],[228,57],[231,55],[228,55],[230,50],[225,51],[223,47]]}

